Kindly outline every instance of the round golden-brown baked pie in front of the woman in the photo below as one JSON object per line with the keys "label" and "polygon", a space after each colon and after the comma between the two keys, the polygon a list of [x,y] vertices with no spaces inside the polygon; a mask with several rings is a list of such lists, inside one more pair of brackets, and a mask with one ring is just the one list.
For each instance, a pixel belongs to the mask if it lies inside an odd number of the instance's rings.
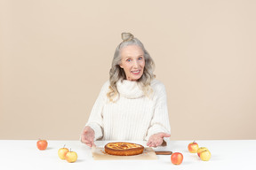
{"label": "round golden-brown baked pie in front of the woman", "polygon": [[105,152],[109,155],[132,156],[139,155],[144,151],[144,147],[137,143],[107,143]]}

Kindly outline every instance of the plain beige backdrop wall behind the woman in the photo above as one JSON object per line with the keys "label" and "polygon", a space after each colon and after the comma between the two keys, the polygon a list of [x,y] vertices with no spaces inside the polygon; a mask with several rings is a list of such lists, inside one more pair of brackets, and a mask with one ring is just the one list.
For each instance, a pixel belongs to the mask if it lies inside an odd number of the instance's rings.
{"label": "plain beige backdrop wall behind the woman", "polygon": [[124,31],[155,59],[172,140],[256,139],[256,1],[0,2],[0,139],[79,139]]}

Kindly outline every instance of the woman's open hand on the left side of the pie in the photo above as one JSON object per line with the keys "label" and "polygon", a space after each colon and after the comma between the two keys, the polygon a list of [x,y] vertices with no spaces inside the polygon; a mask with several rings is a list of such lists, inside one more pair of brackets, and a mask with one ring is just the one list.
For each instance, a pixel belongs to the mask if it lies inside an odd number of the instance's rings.
{"label": "woman's open hand on the left side of the pie", "polygon": [[92,146],[96,146],[94,144],[94,136],[94,130],[91,127],[86,126],[84,128],[83,134],[81,135],[81,142],[92,148]]}

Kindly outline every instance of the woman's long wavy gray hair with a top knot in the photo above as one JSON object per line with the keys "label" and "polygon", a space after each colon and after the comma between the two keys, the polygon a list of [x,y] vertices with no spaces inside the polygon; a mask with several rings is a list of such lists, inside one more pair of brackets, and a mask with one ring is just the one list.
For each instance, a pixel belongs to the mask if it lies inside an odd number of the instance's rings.
{"label": "woman's long wavy gray hair with a top knot", "polygon": [[156,77],[153,73],[155,70],[155,63],[150,57],[148,51],[144,48],[142,42],[139,39],[134,38],[131,33],[122,33],[123,42],[121,42],[117,47],[112,60],[112,66],[109,71],[109,91],[107,97],[110,102],[114,102],[114,98],[119,94],[116,88],[116,82],[119,80],[124,80],[126,78],[124,69],[119,65],[121,64],[122,57],[120,55],[120,50],[129,45],[138,45],[144,51],[145,66],[144,71],[140,79],[138,80],[140,89],[143,90],[145,96],[149,97],[152,92],[150,87],[150,82]]}

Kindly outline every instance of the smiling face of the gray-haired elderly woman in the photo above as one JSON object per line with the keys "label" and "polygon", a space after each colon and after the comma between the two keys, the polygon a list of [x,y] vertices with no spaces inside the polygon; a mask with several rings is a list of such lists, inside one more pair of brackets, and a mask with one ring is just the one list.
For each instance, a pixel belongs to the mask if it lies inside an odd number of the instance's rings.
{"label": "smiling face of the gray-haired elderly woman", "polygon": [[126,80],[137,81],[143,74],[145,66],[144,52],[138,45],[128,45],[121,49],[121,64]]}

